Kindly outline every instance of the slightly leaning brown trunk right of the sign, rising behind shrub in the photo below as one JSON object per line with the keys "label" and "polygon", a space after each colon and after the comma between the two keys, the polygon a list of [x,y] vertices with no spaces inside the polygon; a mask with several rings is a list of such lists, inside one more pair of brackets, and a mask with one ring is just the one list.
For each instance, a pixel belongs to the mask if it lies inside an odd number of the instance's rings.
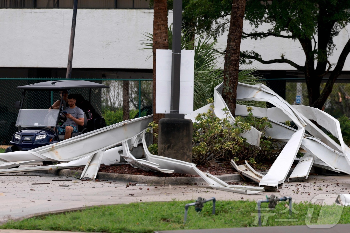
{"label": "slightly leaning brown trunk right of the sign, rising behind shrub", "polygon": [[239,53],[244,10],[245,0],[233,1],[224,63],[224,86],[222,95],[233,116],[235,116],[236,112]]}

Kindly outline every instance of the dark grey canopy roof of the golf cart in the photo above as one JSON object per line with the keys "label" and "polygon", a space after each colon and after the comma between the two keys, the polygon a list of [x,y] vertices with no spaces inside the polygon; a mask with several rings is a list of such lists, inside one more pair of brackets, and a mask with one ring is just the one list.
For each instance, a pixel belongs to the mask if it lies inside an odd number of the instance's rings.
{"label": "dark grey canopy roof of the golf cart", "polygon": [[65,89],[73,89],[73,88],[109,88],[109,86],[94,83],[85,80],[75,80],[75,79],[67,79],[67,80],[56,80],[56,81],[47,81],[41,83],[29,84],[26,86],[18,86],[18,89],[23,90],[65,90]]}

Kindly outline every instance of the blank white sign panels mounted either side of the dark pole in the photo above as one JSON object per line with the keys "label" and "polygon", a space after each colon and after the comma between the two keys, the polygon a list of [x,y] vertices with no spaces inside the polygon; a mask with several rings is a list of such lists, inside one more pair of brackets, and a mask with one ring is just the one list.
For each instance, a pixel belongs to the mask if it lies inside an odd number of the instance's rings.
{"label": "blank white sign panels mounted either side of the dark pole", "polygon": [[[172,50],[157,49],[156,113],[170,113]],[[193,112],[194,50],[181,50],[179,113]]]}

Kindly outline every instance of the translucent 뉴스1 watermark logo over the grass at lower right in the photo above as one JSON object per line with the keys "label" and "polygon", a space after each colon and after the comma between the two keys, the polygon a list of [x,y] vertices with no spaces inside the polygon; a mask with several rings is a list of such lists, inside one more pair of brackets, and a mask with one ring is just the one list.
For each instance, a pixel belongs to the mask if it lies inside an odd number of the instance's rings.
{"label": "translucent \ub274\uc2a41 watermark logo over the grass at lower right", "polygon": [[[334,198],[333,198],[334,197]],[[344,206],[342,205],[334,205],[334,206],[328,206],[325,205],[331,205],[334,203],[334,200],[336,199],[337,195],[330,195],[329,193],[323,193],[316,195],[312,200],[311,204],[315,205],[321,205],[320,211],[315,211],[315,207],[309,207],[305,216],[305,224],[310,228],[330,228],[335,226],[343,212]],[[274,221],[278,222],[292,222],[292,221],[299,221],[299,218],[295,216],[299,213],[299,211],[294,209],[294,199],[292,199],[292,205],[285,204],[285,209],[282,211],[274,212],[275,209],[270,208],[260,208],[260,214],[258,213],[259,206],[258,203],[255,205],[255,210],[257,213],[251,213],[250,216],[255,216],[253,225],[259,224],[259,217],[260,217],[260,223],[261,226],[264,226],[267,224],[267,221],[269,217],[271,216],[278,216],[280,214],[283,214],[287,211],[289,211],[290,206],[292,214],[290,215],[290,218],[275,218]],[[318,209],[318,208],[317,208]],[[270,218],[271,219],[271,218]]]}

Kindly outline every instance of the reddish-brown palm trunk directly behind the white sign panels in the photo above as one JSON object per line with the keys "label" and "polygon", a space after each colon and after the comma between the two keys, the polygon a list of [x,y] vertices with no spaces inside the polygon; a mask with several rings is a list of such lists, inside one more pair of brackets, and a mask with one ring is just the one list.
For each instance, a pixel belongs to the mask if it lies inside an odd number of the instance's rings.
{"label": "reddish-brown palm trunk directly behind the white sign panels", "polygon": [[[164,114],[155,113],[155,65],[156,50],[168,49],[168,8],[167,0],[154,0],[153,13],[153,121],[158,124]],[[169,103],[170,104],[170,103]]]}

